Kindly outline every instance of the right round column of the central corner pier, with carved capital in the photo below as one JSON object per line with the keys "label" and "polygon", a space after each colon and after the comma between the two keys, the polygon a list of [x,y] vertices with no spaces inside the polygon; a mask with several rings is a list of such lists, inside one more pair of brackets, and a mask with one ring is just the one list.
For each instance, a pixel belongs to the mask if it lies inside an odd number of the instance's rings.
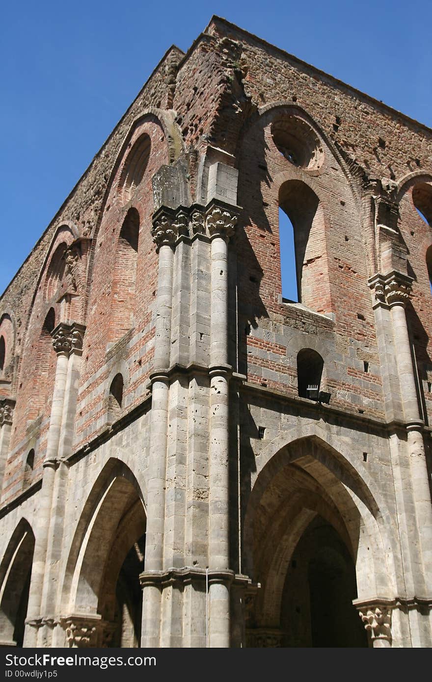
{"label": "right round column of the central corner pier, with carved capital", "polygon": [[[211,243],[209,554],[210,647],[229,647],[229,365],[228,241],[237,218],[218,206],[207,212]],[[220,580],[216,572],[221,572]]]}

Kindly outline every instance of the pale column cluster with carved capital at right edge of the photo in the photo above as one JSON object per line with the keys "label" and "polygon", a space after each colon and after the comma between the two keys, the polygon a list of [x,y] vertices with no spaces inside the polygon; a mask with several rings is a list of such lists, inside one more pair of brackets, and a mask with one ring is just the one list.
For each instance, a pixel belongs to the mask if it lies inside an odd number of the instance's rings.
{"label": "pale column cluster with carved capital at right edge of the photo", "polygon": [[[397,585],[399,595],[391,604],[383,605],[378,600],[376,604],[356,603],[356,606],[373,646],[390,646],[390,616],[392,614],[393,620],[398,619],[398,629],[403,629],[403,610],[407,613],[412,646],[428,646],[427,614],[430,618],[432,604],[432,505],[423,440],[424,422],[420,416],[414,367],[416,360],[409,340],[406,311],[412,278],[393,270],[384,276],[377,274],[369,284],[374,293],[381,364],[387,372],[384,391],[388,396],[386,411],[390,423],[401,573]],[[384,630],[382,623],[386,624]]]}

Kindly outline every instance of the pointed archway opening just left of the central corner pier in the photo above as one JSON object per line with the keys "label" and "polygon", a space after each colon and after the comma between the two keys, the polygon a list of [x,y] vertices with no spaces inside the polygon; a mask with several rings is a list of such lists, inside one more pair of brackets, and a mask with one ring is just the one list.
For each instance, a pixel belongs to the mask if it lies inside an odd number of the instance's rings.
{"label": "pointed archway opening just left of the central corner pier", "polygon": [[[143,503],[126,466],[116,467],[103,492],[97,494],[98,481],[95,486],[78,524],[66,571],[70,611],[94,623],[89,646],[139,647],[139,575],[146,528]],[[80,645],[73,638],[69,644]]]}

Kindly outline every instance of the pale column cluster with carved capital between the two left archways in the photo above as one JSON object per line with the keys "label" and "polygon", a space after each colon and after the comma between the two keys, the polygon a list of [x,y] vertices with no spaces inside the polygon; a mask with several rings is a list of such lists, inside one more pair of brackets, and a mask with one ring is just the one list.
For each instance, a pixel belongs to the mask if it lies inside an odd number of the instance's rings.
{"label": "pale column cluster with carved capital between the two left archways", "polygon": [[55,619],[59,563],[65,523],[68,463],[85,327],[60,323],[53,329],[57,354],[53,402],[44,459],[42,490],[35,519],[35,552],[27,608],[25,647],[61,646]]}

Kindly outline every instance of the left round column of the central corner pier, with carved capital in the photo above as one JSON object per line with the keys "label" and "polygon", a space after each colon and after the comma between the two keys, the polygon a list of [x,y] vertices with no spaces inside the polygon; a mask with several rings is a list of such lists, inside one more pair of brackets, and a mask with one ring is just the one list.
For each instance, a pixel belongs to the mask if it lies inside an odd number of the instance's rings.
{"label": "left round column of the central corner pier, with carved capital", "polygon": [[[172,220],[159,211],[152,230],[158,247],[158,293],[156,296],[156,329],[154,372],[152,381],[152,413],[150,417],[149,477],[147,487],[147,533],[145,573],[160,572],[163,566],[165,484],[167,470],[167,436],[169,376],[171,351],[171,317],[173,306],[173,246],[176,239]],[[143,647],[160,645],[160,587],[151,580],[143,584]]]}

